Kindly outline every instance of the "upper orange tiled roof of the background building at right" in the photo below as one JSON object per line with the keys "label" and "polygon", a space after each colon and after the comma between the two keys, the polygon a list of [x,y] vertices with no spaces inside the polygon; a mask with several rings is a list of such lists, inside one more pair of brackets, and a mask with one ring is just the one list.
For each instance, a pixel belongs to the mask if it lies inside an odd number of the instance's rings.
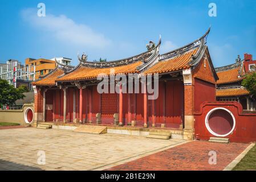
{"label": "upper orange tiled roof of the background building at right", "polygon": [[219,80],[217,81],[217,84],[226,84],[226,83],[241,81],[242,77],[238,78],[239,69],[240,68],[238,67],[238,68],[218,72],[217,75],[219,77]]}

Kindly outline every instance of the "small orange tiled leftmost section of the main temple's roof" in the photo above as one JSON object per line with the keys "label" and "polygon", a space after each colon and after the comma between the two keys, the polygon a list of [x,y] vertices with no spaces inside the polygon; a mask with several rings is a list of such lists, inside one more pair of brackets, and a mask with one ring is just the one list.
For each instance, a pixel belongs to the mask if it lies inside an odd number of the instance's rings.
{"label": "small orange tiled leftmost section of the main temple's roof", "polygon": [[32,85],[55,85],[55,80],[58,76],[63,75],[64,71],[62,69],[56,69],[46,77],[42,78],[42,80],[32,82]]}

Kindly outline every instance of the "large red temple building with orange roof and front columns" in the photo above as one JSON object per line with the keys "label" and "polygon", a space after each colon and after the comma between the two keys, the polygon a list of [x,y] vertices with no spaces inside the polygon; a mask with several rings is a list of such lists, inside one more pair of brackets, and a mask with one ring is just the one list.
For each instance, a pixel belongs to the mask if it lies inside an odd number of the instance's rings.
{"label": "large red temple building with orange roof and front columns", "polygon": [[[200,111],[204,101],[216,101],[218,75],[206,46],[209,31],[162,55],[160,38],[157,44],[149,42],[147,51],[121,60],[99,63],[87,61],[83,54],[76,67],[57,62],[58,67],[33,82],[35,121],[119,126],[136,122],[141,127],[182,130],[184,139],[192,139],[194,111]],[[139,93],[122,92],[125,84],[135,85],[136,79],[118,85],[118,93],[97,92],[99,75],[111,79],[132,73],[140,81]],[[157,99],[149,100],[142,75],[159,76]]]}

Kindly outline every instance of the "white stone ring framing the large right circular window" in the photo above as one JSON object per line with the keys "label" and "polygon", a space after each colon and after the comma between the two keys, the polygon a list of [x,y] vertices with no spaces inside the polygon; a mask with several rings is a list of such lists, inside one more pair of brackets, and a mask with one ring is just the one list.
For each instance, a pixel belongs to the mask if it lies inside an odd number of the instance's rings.
{"label": "white stone ring framing the large right circular window", "polygon": [[[217,133],[215,133],[215,132],[210,128],[210,126],[209,126],[209,117],[210,117],[210,114],[212,114],[212,113],[213,113],[214,111],[216,111],[216,110],[225,110],[225,111],[227,111],[227,112],[231,115],[231,117],[233,118],[233,127],[232,127],[232,129],[229,131],[229,133],[224,134],[224,135],[217,134]],[[230,110],[228,110],[228,109],[226,109],[226,108],[224,108],[224,107],[216,107],[216,108],[213,108],[212,110],[210,110],[210,111],[206,114],[206,117],[205,117],[205,126],[206,126],[206,129],[207,129],[211,134],[213,134],[214,136],[216,136],[216,137],[226,137],[227,135],[230,135],[230,134],[234,131],[234,129],[235,129],[235,117],[234,117],[234,114],[231,113]]]}

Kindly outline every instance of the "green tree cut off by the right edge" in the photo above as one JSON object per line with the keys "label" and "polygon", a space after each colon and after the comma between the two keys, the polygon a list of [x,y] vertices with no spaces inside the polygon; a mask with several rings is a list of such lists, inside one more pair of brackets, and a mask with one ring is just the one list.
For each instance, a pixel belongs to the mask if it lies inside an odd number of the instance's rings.
{"label": "green tree cut off by the right edge", "polygon": [[242,86],[244,86],[250,94],[256,98],[256,72],[248,73],[242,81]]}

